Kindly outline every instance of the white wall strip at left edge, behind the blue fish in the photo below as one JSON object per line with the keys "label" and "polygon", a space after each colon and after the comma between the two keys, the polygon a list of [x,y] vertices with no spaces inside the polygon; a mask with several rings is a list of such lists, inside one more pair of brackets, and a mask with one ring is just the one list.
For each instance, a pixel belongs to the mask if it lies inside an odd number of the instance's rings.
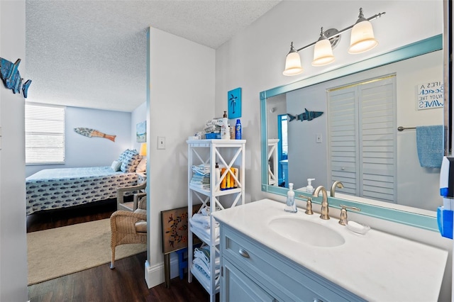
{"label": "white wall strip at left edge, behind the blue fish", "polygon": [[[26,74],[25,1],[0,1],[0,57]],[[0,84],[0,301],[27,301],[24,99]]]}

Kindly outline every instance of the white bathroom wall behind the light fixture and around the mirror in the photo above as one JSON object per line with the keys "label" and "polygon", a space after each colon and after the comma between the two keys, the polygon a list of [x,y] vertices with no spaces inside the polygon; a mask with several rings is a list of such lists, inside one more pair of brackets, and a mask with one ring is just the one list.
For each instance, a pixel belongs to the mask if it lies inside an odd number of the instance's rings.
{"label": "white bathroom wall behind the light fixture and around the mirror", "polygon": [[[302,47],[314,42],[320,27],[344,28],[350,26],[358,17],[362,6],[365,17],[375,13],[386,14],[375,21],[375,36],[380,44],[371,52],[363,55],[348,55],[349,35],[343,35],[334,50],[336,62],[327,67],[312,67],[310,64],[312,48],[300,52],[304,60],[303,74],[284,77],[284,60],[290,42]],[[328,8],[329,9],[326,9]],[[366,57],[388,52],[416,40],[438,35],[443,31],[443,3],[437,1],[282,1],[275,8],[255,21],[238,35],[216,50],[216,111],[226,106],[226,92],[242,87],[243,108],[241,123],[246,143],[246,201],[269,197],[282,200],[281,196],[265,194],[261,191],[260,174],[260,101],[259,93],[283,84],[321,72],[348,65]],[[301,204],[302,206],[302,204]],[[319,211],[314,206],[314,211]],[[338,216],[338,211],[332,211]],[[331,213],[331,211],[330,211]],[[364,216],[358,216],[364,219]],[[355,218],[355,215],[352,215]],[[411,228],[397,223],[368,218],[372,228],[380,228],[413,240],[452,250],[452,240],[438,233]],[[451,256],[448,260],[443,280],[441,301],[450,301]]]}

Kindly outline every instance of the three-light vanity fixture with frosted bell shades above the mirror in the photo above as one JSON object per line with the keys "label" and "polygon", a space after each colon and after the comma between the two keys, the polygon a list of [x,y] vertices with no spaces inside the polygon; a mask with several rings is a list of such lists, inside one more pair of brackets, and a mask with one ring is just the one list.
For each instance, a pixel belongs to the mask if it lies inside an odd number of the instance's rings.
{"label": "three-light vanity fixture with frosted bell shades above the mirror", "polygon": [[348,53],[357,54],[371,50],[378,45],[378,41],[374,37],[370,21],[380,18],[382,15],[384,15],[384,13],[377,13],[370,18],[364,18],[361,8],[358,21],[347,28],[342,30],[330,28],[325,31],[321,28],[319,40],[299,49],[295,49],[292,42],[290,44],[290,52],[285,59],[285,69],[282,74],[286,76],[301,74],[301,72],[303,72],[303,67],[301,67],[301,58],[299,57],[298,52],[311,47],[312,45],[315,45],[312,66],[324,66],[334,62],[335,57],[333,56],[333,47],[339,42],[341,34],[350,29],[352,30],[352,34]]}

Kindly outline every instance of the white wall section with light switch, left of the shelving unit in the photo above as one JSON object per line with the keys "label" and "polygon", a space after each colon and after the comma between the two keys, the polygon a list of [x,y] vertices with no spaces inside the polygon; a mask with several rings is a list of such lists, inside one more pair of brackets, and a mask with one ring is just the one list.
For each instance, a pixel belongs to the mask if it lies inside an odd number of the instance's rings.
{"label": "white wall section with light switch, left of the shelving unit", "polygon": [[[215,116],[215,52],[156,28],[150,28],[149,43],[150,246],[145,279],[151,287],[164,281],[160,211],[187,206],[186,140]],[[165,150],[157,150],[158,136],[165,137]]]}

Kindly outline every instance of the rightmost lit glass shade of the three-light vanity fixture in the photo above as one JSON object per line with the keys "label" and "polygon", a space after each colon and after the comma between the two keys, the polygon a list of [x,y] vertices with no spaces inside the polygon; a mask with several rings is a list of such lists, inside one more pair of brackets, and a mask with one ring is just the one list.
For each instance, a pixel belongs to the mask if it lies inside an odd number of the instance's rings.
{"label": "rightmost lit glass shade of the three-light vanity fixture", "polygon": [[348,53],[367,52],[367,50],[371,50],[377,45],[378,41],[375,40],[374,30],[372,30],[370,21],[361,21],[353,26]]}

